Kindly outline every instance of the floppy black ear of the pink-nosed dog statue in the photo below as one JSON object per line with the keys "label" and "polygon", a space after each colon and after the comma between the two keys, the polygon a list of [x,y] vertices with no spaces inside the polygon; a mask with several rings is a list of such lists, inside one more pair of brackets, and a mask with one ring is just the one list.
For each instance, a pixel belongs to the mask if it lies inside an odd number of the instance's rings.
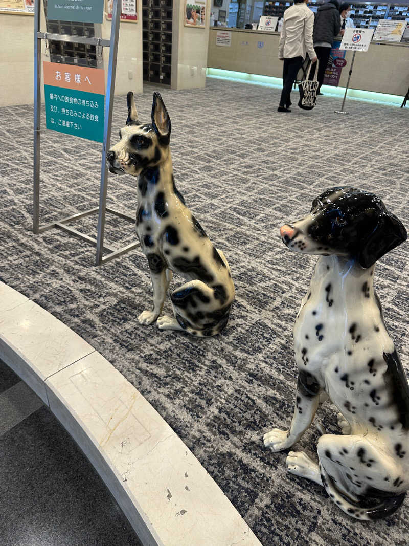
{"label": "floppy black ear of the pink-nosed dog statue", "polygon": [[389,212],[382,212],[372,233],[363,241],[358,261],[370,268],[384,254],[406,241],[407,232],[402,222]]}

